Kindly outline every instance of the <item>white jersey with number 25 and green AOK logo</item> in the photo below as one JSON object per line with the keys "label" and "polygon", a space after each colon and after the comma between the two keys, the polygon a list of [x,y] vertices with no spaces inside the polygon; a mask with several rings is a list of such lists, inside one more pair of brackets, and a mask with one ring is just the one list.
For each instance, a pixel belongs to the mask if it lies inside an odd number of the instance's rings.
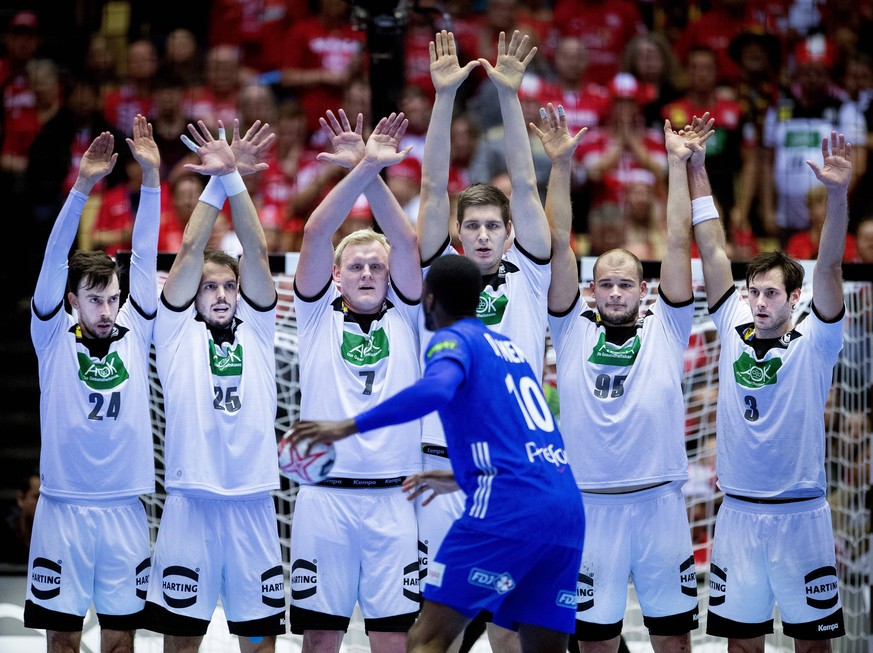
{"label": "white jersey with number 25 and green AOK logo", "polygon": [[279,487],[276,307],[240,293],[234,341],[216,345],[194,302],[163,301],[155,325],[167,414],[166,487],[188,496],[242,496]]}

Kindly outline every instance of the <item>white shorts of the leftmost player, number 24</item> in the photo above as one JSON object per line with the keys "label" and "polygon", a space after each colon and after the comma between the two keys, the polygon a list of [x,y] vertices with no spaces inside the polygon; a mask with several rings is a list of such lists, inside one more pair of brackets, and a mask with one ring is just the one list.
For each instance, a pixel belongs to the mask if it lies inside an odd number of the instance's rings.
{"label": "white shorts of the leftmost player, number 24", "polygon": [[103,628],[141,628],[150,552],[139,498],[83,505],[43,494],[30,540],[25,626],[81,630],[93,601]]}

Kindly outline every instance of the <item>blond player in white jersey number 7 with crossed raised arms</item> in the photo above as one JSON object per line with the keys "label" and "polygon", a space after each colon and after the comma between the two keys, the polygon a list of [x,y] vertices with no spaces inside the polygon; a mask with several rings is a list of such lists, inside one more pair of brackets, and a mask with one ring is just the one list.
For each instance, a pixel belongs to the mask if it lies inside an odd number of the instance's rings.
{"label": "blond player in white jersey number 7 with crossed raised arms", "polygon": [[[294,277],[300,350],[300,414],[342,419],[420,375],[421,271],[415,230],[380,176],[398,151],[403,114],[382,118],[366,145],[363,117],[322,118],[333,153],[351,168],[307,220]],[[333,246],[359,195],[382,234],[352,232]],[[384,234],[384,235],[383,235]],[[415,509],[403,478],[421,469],[418,422],[337,444],[331,476],[299,488],[291,532],[291,631],[306,653],[335,653],[360,606],[370,647],[401,653],[419,610]]]}

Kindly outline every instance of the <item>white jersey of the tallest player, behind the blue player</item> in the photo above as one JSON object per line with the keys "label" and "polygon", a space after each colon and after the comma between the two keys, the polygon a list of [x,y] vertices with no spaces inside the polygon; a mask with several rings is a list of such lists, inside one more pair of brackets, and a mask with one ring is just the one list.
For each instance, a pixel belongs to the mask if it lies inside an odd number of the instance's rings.
{"label": "white jersey of the tallest player, behind the blue player", "polygon": [[[443,256],[458,255],[451,246]],[[424,269],[424,274],[427,274]],[[489,329],[505,335],[521,349],[536,378],[543,378],[546,355],[546,315],[549,283],[552,279],[548,260],[538,261],[513,243],[503,255],[503,262],[494,279],[479,295],[476,316]],[[424,312],[419,318],[422,354],[433,337],[424,326]],[[445,446],[442,424],[436,413],[423,419],[422,442]]]}

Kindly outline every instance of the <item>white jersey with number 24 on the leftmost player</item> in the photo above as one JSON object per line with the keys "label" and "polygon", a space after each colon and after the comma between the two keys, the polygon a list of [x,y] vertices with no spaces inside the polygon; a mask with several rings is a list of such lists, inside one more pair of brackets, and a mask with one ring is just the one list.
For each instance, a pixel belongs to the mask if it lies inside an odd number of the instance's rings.
{"label": "white jersey with number 24 on the leftmost player", "polygon": [[109,352],[97,359],[63,305],[44,320],[33,314],[42,493],[99,501],[155,491],[148,380],[153,324],[154,316],[126,301]]}

